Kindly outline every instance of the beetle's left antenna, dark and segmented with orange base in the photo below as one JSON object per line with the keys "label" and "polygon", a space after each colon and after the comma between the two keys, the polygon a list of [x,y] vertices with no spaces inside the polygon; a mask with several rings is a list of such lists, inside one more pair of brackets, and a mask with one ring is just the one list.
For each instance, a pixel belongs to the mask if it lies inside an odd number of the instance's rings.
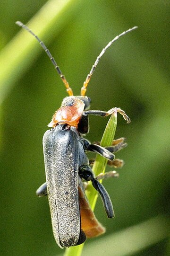
{"label": "beetle's left antenna, dark and segmented with orange base", "polygon": [[57,62],[54,60],[54,58],[52,57],[49,49],[47,49],[46,45],[40,40],[40,38],[35,35],[33,33],[33,31],[31,29],[29,29],[29,27],[27,27],[26,25],[24,25],[21,21],[17,21],[16,24],[18,26],[21,26],[22,28],[26,29],[29,33],[31,33],[31,35],[33,35],[37,40],[38,42],[40,43],[40,45],[42,46],[42,48],[45,50],[45,52],[47,53],[47,55],[49,56],[52,64],[54,65],[56,71],[58,72],[60,78],[62,79],[63,83],[65,84],[65,87],[66,87],[66,90],[68,92],[68,95],[69,96],[72,96],[73,95],[73,91],[72,89],[69,87],[69,84],[68,84],[68,81],[66,80],[65,76],[62,74],[62,72],[60,71],[59,69],[59,66],[57,65]]}

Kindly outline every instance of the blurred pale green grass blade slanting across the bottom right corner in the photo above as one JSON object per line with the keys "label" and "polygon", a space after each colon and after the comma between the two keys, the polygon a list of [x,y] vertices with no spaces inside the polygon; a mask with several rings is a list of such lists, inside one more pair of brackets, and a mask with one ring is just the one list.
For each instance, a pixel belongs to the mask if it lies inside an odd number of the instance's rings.
{"label": "blurred pale green grass blade slanting across the bottom right corner", "polygon": [[114,234],[100,237],[85,248],[83,255],[91,255],[95,252],[97,256],[103,256],[103,254],[105,256],[135,256],[156,243],[165,239],[168,241],[169,226],[170,221],[167,216],[157,215]]}

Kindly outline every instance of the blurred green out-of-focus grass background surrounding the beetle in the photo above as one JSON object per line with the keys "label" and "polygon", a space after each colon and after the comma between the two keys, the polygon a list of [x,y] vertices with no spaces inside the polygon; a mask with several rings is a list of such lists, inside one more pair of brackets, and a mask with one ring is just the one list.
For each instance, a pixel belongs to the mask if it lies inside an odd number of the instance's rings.
{"label": "blurred green out-of-focus grass background surrounding the beetle", "polygon": [[[51,20],[61,2],[61,12]],[[7,0],[0,7],[0,255],[64,253],[52,235],[47,198],[37,198],[35,191],[45,181],[42,136],[67,94],[36,40],[15,25],[39,10],[39,23],[33,19],[31,28],[75,95],[102,48],[138,26],[105,53],[87,91],[91,109],[121,107],[131,124],[118,116],[116,138],[126,137],[128,147],[116,156],[125,166],[119,179],[103,183],[116,217],[108,220],[98,200],[95,214],[107,232],[87,240],[83,255],[170,255],[170,1]],[[91,116],[86,138],[101,140],[107,121]]]}

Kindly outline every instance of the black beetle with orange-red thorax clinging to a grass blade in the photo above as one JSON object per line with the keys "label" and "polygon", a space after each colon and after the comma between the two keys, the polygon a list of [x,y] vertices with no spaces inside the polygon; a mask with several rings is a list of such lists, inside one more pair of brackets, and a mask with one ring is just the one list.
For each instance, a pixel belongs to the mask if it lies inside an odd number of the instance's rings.
{"label": "black beetle with orange-red thorax clinging to a grass blade", "polygon": [[68,81],[45,44],[22,22],[17,21],[16,24],[26,29],[38,40],[62,79],[69,95],[63,99],[60,108],[52,116],[52,120],[48,124],[51,129],[47,130],[43,136],[46,183],[38,188],[36,194],[40,197],[48,195],[53,234],[59,247],[80,245],[85,242],[86,237],[95,237],[105,232],[105,228],[95,218],[85,197],[82,179],[92,182],[93,187],[102,198],[108,218],[114,217],[110,196],[97,177],[94,177],[86,151],[96,152],[113,161],[115,158],[113,153],[126,146],[123,138],[111,147],[103,148],[98,144],[91,144],[83,137],[89,132],[88,116],[106,117],[117,111],[127,123],[130,122],[129,117],[121,108],[113,107],[107,112],[89,110],[91,100],[85,96],[86,89],[105,51],[120,36],[137,27],[134,26],[117,35],[103,48],[85,79],[80,96],[73,96]]}

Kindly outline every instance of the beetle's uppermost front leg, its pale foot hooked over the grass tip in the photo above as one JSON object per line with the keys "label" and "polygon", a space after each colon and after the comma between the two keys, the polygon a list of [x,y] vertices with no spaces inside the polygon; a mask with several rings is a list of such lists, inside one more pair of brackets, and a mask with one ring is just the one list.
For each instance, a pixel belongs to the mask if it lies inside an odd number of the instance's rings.
{"label": "beetle's uppermost front leg, its pale foot hooked over the grass tip", "polygon": [[87,110],[83,112],[83,115],[100,115],[102,117],[108,116],[113,114],[114,112],[120,113],[120,115],[123,115],[123,118],[127,121],[127,124],[130,123],[130,118],[127,116],[124,110],[122,110],[119,107],[113,107],[108,111],[102,111],[102,110]]}

